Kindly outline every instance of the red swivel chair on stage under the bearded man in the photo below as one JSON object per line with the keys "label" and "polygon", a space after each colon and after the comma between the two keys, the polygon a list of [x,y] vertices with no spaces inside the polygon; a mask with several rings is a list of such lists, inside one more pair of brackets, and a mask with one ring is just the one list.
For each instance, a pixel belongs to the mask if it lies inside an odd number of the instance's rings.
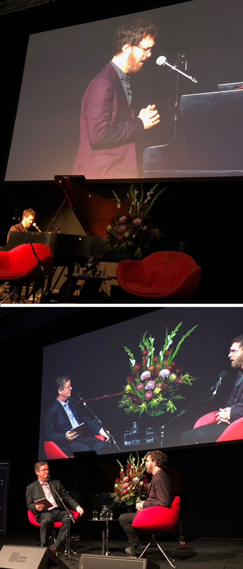
{"label": "red swivel chair on stage under the bearded man", "polygon": [[172,561],[174,561],[174,559],[171,559],[171,557],[163,551],[162,547],[160,547],[159,543],[155,539],[155,533],[158,533],[158,531],[174,529],[178,523],[179,514],[179,496],[175,496],[174,500],[171,502],[170,508],[164,508],[164,506],[150,506],[149,508],[145,508],[136,514],[131,525],[138,530],[150,531],[150,533],[152,533],[151,541],[148,543],[145,550],[143,550],[139,559],[145,554],[150,544],[152,542],[155,542],[156,546],[163,553],[164,557],[167,559],[168,563],[170,563],[171,567],[175,568],[175,565],[172,564]]}

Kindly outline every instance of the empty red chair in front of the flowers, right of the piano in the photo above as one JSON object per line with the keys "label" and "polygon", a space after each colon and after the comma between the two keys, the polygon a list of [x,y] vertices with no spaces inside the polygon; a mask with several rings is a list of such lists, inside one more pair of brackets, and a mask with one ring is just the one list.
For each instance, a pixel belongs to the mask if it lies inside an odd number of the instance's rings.
{"label": "empty red chair in front of the flowers, right of the piano", "polygon": [[116,276],[121,288],[135,296],[183,300],[199,286],[201,267],[186,253],[158,251],[141,261],[121,261]]}

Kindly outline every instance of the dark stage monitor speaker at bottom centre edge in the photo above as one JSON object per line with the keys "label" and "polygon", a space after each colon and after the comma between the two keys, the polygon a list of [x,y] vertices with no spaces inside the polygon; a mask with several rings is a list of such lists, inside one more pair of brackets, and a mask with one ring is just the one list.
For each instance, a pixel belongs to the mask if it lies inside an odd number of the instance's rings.
{"label": "dark stage monitor speaker at bottom centre edge", "polygon": [[158,563],[135,557],[106,557],[106,555],[81,555],[79,569],[159,569]]}

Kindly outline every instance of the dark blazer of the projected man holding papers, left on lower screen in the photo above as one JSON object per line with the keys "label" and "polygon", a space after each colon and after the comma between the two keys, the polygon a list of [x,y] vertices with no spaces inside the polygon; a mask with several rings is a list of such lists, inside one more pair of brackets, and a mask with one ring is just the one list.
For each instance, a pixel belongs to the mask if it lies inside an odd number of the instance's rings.
{"label": "dark blazer of the projected man holding papers, left on lower screen", "polygon": [[[100,426],[94,423],[93,419],[90,419],[88,415],[82,414],[84,407],[78,405],[72,397],[68,400],[68,405],[72,410],[75,419],[79,423],[84,423],[84,431],[82,435],[75,440],[78,440],[81,443],[87,436],[98,435]],[[70,431],[71,428],[72,424],[67,413],[63,409],[61,403],[55,399],[54,403],[52,403],[51,407],[48,409],[45,417],[45,440],[52,440],[53,443],[56,443],[61,450],[63,450],[63,452],[69,454],[70,443],[66,439],[65,434],[67,431]]]}

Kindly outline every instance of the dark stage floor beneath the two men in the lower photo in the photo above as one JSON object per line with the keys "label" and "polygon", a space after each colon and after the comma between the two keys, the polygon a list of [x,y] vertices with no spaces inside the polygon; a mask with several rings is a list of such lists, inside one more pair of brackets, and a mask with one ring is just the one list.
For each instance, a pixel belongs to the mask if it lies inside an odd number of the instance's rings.
{"label": "dark stage floor beneath the two men in the lower photo", "polygon": [[[175,566],[182,569],[242,569],[243,567],[243,539],[188,539],[185,546],[178,541],[159,541],[164,551],[175,559]],[[38,546],[35,536],[32,534],[10,534],[0,537],[0,549],[3,545]],[[143,542],[145,545],[145,542]],[[109,552],[112,556],[129,558],[125,554],[125,540],[109,541]],[[76,552],[77,560],[62,558],[69,568],[79,569],[79,560],[82,554],[101,555],[101,541],[85,540],[72,544],[72,550]],[[59,556],[64,551],[60,546]],[[162,559],[162,553],[156,547],[150,547],[146,553],[146,559],[158,563],[160,569],[170,567],[166,560]]]}

